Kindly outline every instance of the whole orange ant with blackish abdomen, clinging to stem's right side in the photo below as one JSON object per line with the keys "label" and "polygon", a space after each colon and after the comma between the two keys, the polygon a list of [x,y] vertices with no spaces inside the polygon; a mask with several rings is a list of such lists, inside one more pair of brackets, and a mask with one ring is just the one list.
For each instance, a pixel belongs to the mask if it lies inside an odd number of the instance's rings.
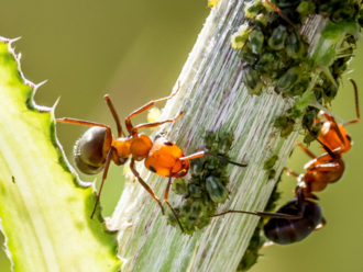
{"label": "whole orange ant with blackish abdomen, clinging to stem's right side", "polygon": [[[354,87],[356,118],[339,125],[333,116],[323,113],[327,121],[322,125],[321,134],[316,139],[327,152],[316,157],[302,144],[296,143],[312,159],[305,166],[305,174],[285,169],[289,175],[299,181],[295,189],[296,199],[287,202],[276,213],[230,209],[211,217],[229,213],[270,217],[271,219],[264,226],[265,236],[279,245],[301,241],[314,230],[322,228],[327,220],[322,216],[321,207],[316,202],[318,197],[312,192],[323,191],[329,183],[337,182],[343,175],[345,165],[342,160],[342,154],[348,152],[352,145],[351,137],[343,126],[360,121],[358,88],[354,80],[350,79],[350,81]],[[315,137],[310,129],[309,133]]]}

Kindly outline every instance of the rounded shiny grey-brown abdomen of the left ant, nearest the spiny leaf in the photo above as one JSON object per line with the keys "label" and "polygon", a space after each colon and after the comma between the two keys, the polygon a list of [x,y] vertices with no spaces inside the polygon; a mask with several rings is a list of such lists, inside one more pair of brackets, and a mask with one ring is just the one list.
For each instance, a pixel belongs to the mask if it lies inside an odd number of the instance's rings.
{"label": "rounded shiny grey-brown abdomen of the left ant, nearest the spiny leaf", "polygon": [[108,148],[105,146],[106,128],[94,126],[77,140],[74,156],[77,168],[86,174],[96,174],[105,167]]}

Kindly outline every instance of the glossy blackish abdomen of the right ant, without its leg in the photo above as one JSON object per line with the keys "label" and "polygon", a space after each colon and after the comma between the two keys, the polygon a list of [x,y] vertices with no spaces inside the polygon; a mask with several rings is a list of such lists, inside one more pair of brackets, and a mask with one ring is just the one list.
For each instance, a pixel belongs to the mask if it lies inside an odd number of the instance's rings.
{"label": "glossy blackish abdomen of the right ant, without its leg", "polygon": [[[293,199],[276,213],[297,214],[297,199]],[[290,245],[308,237],[322,222],[319,204],[305,200],[305,211],[300,219],[271,218],[264,226],[265,236],[278,245]]]}

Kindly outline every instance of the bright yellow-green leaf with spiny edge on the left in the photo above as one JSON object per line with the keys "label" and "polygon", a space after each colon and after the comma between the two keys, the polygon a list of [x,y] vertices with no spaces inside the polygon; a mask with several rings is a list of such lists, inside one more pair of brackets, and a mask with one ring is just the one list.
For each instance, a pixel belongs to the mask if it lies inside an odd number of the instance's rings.
{"label": "bright yellow-green leaf with spiny edge on the left", "polygon": [[0,227],[13,270],[116,271],[116,237],[89,218],[94,190],[70,172],[11,42],[0,38]]}

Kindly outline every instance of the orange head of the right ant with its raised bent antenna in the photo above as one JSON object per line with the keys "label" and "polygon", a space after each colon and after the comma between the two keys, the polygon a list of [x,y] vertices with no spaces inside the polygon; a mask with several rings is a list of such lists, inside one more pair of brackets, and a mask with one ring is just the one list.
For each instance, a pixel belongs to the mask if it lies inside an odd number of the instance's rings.
{"label": "orange head of the right ant with its raised bent antenna", "polygon": [[318,139],[326,144],[331,150],[339,148],[339,154],[348,152],[352,147],[352,138],[345,131],[344,126],[358,123],[361,117],[359,109],[358,88],[354,80],[350,79],[350,81],[354,87],[356,118],[345,122],[343,124],[337,124],[333,116],[323,113],[322,115],[327,118],[327,121],[323,122],[321,133],[318,137]]}

